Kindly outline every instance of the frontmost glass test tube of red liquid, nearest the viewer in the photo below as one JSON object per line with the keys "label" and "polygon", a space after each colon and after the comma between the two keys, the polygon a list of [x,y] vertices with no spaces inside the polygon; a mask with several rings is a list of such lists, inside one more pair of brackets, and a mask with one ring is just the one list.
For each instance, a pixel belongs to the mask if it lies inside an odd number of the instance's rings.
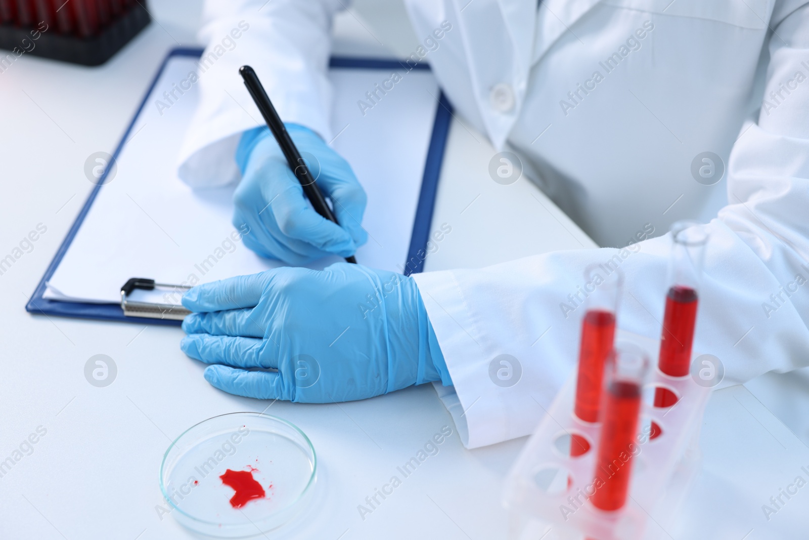
{"label": "frontmost glass test tube of red liquid, nearest the viewer", "polygon": [[649,358],[631,343],[616,346],[604,369],[601,438],[595,461],[595,508],[623,508],[632,477],[632,458],[637,445],[637,419],[641,410],[641,387],[649,371]]}

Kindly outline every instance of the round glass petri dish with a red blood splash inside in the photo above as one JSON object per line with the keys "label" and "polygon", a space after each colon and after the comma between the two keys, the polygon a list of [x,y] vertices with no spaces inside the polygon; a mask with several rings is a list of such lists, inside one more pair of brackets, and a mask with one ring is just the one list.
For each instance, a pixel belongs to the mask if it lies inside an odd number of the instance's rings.
{"label": "round glass petri dish with a red blood splash inside", "polygon": [[255,412],[214,416],[168,447],[160,490],[172,516],[217,538],[276,530],[307,508],[317,479],[309,438],[285,419]]}

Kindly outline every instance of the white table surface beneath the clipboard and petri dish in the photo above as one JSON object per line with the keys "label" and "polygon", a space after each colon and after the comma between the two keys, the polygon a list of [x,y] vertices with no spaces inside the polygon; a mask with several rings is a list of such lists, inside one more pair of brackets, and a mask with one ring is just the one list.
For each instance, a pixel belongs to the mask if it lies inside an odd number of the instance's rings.
{"label": "white table surface beneath the clipboard and petri dish", "polygon": [[[167,49],[192,42],[195,3],[180,2],[191,6],[193,16],[185,17],[176,3],[151,2],[158,23],[100,68],[24,56],[0,74],[0,257],[38,223],[48,227],[32,252],[0,275],[0,460],[37,427],[47,430],[0,478],[4,540],[193,538],[155,509],[162,504],[163,452],[201,419],[269,405],[210,387],[204,366],[180,351],[180,329],[24,311],[91,189],[84,160],[112,151]],[[357,19],[342,17],[341,52],[370,50],[362,32]],[[406,50],[407,32],[399,37],[391,48]],[[454,121],[434,218],[451,223],[453,232],[428,258],[427,270],[593,245],[529,182],[491,181],[491,155],[481,134]],[[485,253],[477,249],[481,238],[492,240]],[[83,375],[96,354],[109,355],[118,368],[106,388]],[[524,440],[463,449],[430,385],[340,405],[276,402],[267,412],[302,427],[319,453],[319,511],[290,538],[505,538],[500,489]],[[363,521],[357,505],[443,426],[454,434],[438,455]],[[809,507],[809,487],[770,521],[761,512],[770,495],[802,474],[799,464],[809,469],[809,450],[752,394],[743,387],[715,393],[702,442],[705,467],[695,495],[681,526],[663,538],[805,533],[800,516]]]}

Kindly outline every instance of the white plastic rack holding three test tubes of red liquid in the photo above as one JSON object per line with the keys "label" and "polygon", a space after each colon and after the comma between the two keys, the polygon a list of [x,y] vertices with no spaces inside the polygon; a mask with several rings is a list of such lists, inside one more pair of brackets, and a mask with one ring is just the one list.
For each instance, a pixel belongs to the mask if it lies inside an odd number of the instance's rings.
{"label": "white plastic rack holding three test tubes of red liquid", "polygon": [[[605,512],[587,500],[595,478],[600,423],[583,422],[574,415],[574,370],[506,478],[503,502],[509,512],[510,540],[671,538],[667,531],[676,525],[676,513],[699,470],[701,419],[711,389],[697,385],[691,376],[660,372],[659,341],[617,330],[617,342],[642,347],[651,364],[643,386],[640,440],[636,437],[638,450],[625,506]],[[672,406],[655,407],[657,388],[679,399]],[[652,423],[659,429],[654,439],[649,436],[654,433]],[[583,437],[589,444],[587,451],[571,457],[557,448],[559,440],[571,436]],[[584,448],[587,444],[579,452]]]}

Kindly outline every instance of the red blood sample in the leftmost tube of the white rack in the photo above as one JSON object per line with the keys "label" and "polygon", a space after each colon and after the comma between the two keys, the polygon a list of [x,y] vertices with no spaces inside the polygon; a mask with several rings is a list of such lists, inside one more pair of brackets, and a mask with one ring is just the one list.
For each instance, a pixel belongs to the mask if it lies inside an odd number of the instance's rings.
{"label": "red blood sample in the leftmost tube of the white rack", "polygon": [[585,422],[597,422],[604,361],[612,351],[615,315],[603,309],[588,311],[582,321],[582,343],[578,352],[578,381],[574,412]]}

